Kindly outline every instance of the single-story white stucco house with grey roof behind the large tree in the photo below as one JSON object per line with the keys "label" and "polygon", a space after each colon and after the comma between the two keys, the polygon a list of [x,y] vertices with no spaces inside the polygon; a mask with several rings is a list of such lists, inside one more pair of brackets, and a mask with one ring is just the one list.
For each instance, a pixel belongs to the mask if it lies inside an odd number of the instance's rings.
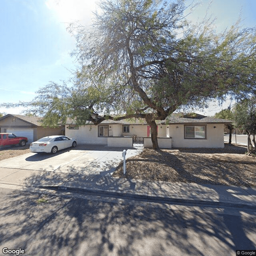
{"label": "single-story white stucco house with grey roof behind the large tree", "polygon": [[[224,124],[230,123],[230,120],[195,113],[181,117],[171,115],[157,123],[158,144],[160,148],[223,148]],[[140,144],[152,147],[150,126],[144,119],[105,120],[97,126],[92,122],[85,126],[75,126],[74,122],[70,121],[66,124],[65,134],[75,138],[78,143],[126,147]]]}

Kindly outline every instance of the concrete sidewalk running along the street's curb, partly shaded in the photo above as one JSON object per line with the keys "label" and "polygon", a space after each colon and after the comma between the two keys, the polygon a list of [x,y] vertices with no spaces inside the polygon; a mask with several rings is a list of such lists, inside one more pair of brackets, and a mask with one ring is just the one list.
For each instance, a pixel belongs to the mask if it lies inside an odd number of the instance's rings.
{"label": "concrete sidewalk running along the street's curb, partly shaded", "polygon": [[[109,173],[106,173],[109,175]],[[52,171],[20,170],[0,168],[0,187],[19,185],[40,187],[70,192],[91,192],[102,197],[122,198],[157,202],[191,201],[212,204],[227,203],[256,207],[256,188],[239,186],[219,186],[162,181],[135,180],[79,172],[77,174]]]}

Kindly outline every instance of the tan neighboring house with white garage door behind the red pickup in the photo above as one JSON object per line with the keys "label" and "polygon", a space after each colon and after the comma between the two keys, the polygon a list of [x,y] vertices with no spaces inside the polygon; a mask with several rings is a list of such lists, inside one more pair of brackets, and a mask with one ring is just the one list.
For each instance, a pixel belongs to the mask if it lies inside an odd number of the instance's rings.
{"label": "tan neighboring house with white garage door behind the red pickup", "polygon": [[0,118],[0,132],[13,133],[28,138],[28,142],[36,141],[44,136],[64,135],[65,126],[59,128],[43,128],[40,117],[7,114]]}

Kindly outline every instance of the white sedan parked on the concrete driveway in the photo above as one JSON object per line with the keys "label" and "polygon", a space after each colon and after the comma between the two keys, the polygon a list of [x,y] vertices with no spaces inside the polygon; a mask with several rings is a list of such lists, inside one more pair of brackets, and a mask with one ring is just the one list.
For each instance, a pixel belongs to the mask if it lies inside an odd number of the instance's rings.
{"label": "white sedan parked on the concrete driveway", "polygon": [[58,150],[63,148],[75,147],[76,141],[66,136],[47,136],[41,138],[30,144],[30,151],[34,153],[46,152],[57,153]]}

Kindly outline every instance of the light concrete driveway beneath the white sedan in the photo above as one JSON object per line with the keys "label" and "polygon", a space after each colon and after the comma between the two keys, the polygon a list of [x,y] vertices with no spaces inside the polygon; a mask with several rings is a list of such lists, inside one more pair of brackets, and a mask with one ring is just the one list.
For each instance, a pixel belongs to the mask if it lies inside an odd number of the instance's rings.
{"label": "light concrete driveway beneath the white sedan", "polygon": [[57,185],[76,174],[111,176],[122,161],[139,154],[136,148],[79,144],[57,154],[28,153],[0,161],[0,182],[10,184]]}

